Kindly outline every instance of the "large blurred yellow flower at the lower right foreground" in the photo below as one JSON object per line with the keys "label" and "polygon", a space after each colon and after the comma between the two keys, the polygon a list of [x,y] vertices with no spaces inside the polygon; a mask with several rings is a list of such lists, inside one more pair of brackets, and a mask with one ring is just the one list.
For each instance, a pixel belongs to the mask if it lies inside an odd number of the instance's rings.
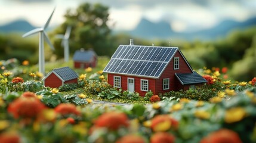
{"label": "large blurred yellow flower at the lower right foreground", "polygon": [[226,123],[239,122],[245,115],[246,112],[242,107],[230,108],[226,111],[224,120]]}

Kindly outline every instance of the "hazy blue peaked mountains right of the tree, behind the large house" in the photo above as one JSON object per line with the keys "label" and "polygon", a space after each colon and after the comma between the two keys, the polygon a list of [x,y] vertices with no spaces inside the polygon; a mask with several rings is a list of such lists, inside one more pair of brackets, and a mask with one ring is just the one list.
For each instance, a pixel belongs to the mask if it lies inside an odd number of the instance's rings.
{"label": "hazy blue peaked mountains right of the tree, behind the large house", "polygon": [[[122,33],[128,33],[131,36],[144,38],[144,39],[201,39],[201,40],[211,40],[217,39],[221,36],[226,36],[229,32],[234,29],[245,29],[250,26],[256,26],[256,17],[250,18],[246,21],[234,21],[234,20],[224,20],[214,27],[209,29],[199,30],[196,32],[174,32],[169,23],[166,21],[159,21],[158,23],[152,23],[145,18],[142,18],[137,27],[131,31],[122,31]],[[118,33],[116,31],[115,33]]]}

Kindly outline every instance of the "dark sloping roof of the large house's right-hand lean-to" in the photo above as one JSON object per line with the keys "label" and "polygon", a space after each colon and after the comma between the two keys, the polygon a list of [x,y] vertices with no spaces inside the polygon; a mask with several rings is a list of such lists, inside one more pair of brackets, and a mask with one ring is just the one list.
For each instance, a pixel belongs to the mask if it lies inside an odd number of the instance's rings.
{"label": "dark sloping roof of the large house's right-hand lean-to", "polygon": [[175,73],[175,76],[182,85],[190,85],[195,83],[206,83],[205,80],[200,74],[194,71],[193,73]]}

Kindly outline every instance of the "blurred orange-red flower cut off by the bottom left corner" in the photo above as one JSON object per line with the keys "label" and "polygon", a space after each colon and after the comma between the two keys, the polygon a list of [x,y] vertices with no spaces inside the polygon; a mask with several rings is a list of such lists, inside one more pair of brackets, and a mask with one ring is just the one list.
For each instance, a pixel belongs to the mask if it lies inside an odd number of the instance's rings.
{"label": "blurred orange-red flower cut off by the bottom left corner", "polygon": [[20,136],[17,133],[1,133],[0,142],[2,143],[18,143],[20,142]]}

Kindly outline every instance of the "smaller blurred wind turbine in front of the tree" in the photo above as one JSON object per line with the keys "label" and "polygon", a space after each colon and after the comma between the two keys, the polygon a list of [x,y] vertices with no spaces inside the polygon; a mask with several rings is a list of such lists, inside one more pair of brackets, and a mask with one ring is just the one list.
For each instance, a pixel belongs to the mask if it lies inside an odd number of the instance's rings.
{"label": "smaller blurred wind turbine in front of the tree", "polygon": [[71,26],[67,26],[65,35],[57,35],[57,38],[62,39],[61,45],[64,46],[64,61],[69,61],[69,36],[71,33]]}

